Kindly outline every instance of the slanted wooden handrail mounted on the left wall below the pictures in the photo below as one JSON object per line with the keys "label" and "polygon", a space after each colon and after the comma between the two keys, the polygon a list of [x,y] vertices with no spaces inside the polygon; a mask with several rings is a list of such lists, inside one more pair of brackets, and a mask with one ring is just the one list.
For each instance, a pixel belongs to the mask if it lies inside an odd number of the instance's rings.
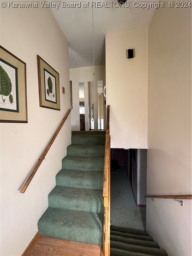
{"label": "slanted wooden handrail mounted on the left wall below the pictures", "polygon": [[68,115],[70,114],[71,109],[68,110],[67,114],[65,115],[64,119],[62,120],[59,128],[57,129],[56,133],[54,134],[53,138],[51,139],[51,141],[49,142],[49,145],[47,146],[47,148],[45,149],[44,153],[42,154],[41,158],[39,159],[38,163],[36,164],[35,168],[33,169],[33,171],[31,172],[29,178],[27,179],[27,181],[25,182],[24,186],[22,187],[20,193],[25,193],[25,190],[27,189],[27,187],[29,186],[31,180],[33,179],[35,173],[37,172],[39,166],[41,165],[41,163],[43,162],[43,159],[45,159],[45,156],[47,154],[47,152],[49,151],[51,145],[53,144],[54,140],[56,139],[59,131],[61,130],[63,124],[65,123]]}

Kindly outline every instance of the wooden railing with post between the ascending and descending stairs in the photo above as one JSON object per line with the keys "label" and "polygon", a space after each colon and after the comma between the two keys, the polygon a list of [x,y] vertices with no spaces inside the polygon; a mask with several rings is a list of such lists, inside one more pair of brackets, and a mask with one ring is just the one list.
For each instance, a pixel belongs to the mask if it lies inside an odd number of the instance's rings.
{"label": "wooden railing with post between the ascending and descending stairs", "polygon": [[104,198],[104,225],[103,225],[103,255],[110,256],[110,132],[109,132],[110,106],[107,106],[105,163],[103,176]]}

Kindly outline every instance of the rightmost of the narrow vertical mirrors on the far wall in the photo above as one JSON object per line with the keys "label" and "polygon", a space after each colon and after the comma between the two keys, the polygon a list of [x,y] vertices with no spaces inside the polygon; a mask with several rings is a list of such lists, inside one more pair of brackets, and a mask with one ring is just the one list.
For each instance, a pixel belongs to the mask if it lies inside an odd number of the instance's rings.
{"label": "rightmost of the narrow vertical mirrors on the far wall", "polygon": [[103,81],[97,81],[98,130],[104,130],[103,123]]}

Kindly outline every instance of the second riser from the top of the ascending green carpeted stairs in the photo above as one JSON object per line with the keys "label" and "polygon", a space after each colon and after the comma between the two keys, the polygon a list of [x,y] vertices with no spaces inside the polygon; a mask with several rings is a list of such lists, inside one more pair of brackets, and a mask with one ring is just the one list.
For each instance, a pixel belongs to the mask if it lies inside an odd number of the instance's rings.
{"label": "second riser from the top of the ascending green carpeted stairs", "polygon": [[105,146],[101,145],[101,147],[91,147],[91,148],[78,148],[69,146],[67,147],[67,155],[68,156],[103,156],[105,155]]}

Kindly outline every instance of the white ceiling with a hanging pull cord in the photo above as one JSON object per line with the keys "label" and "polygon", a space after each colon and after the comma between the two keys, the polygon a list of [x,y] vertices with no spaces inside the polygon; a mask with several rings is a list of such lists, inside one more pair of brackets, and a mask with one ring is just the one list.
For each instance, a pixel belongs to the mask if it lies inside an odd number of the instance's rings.
{"label": "white ceiling with a hanging pull cord", "polygon": [[[105,35],[147,28],[155,11],[154,8],[136,8],[133,6],[135,1],[132,0],[129,1],[131,8],[123,7],[123,5],[119,5],[118,1],[111,0],[68,0],[65,2],[54,2],[60,5],[58,9],[51,8],[51,10],[69,41],[70,68],[93,66],[93,24],[94,64],[95,66],[103,65],[105,64]],[[64,4],[66,7],[62,7],[62,2],[66,3]],[[85,5],[87,2],[89,2],[89,6],[84,8],[83,4]],[[138,3],[142,2],[146,1],[138,1]],[[78,8],[76,6],[73,8],[72,5],[74,5],[74,3],[78,3],[81,7]],[[127,6],[127,3],[124,6]]]}

